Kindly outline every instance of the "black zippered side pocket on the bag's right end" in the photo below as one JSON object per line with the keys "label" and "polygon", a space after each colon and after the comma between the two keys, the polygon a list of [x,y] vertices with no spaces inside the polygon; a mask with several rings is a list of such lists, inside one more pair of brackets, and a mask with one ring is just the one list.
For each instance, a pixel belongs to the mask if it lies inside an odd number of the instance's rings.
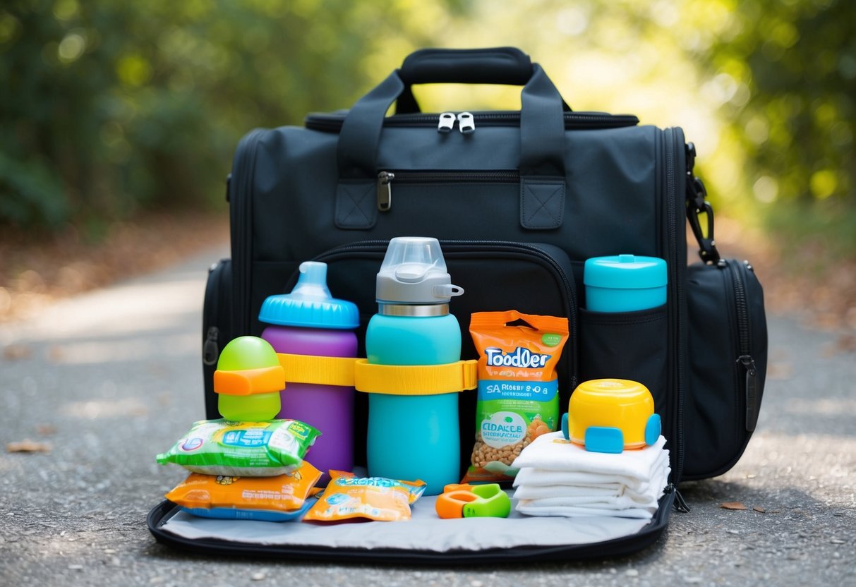
{"label": "black zippered side pocket on the bag's right end", "polygon": [[764,291],[752,266],[722,259],[693,264],[688,276],[687,480],[721,475],[740,460],[767,371]]}

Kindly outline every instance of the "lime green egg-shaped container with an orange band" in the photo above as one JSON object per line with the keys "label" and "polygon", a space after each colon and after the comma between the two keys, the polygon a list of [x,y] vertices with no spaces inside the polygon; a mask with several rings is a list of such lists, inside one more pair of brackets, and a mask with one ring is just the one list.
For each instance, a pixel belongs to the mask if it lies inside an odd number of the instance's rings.
{"label": "lime green egg-shaped container with an orange band", "polygon": [[257,336],[229,341],[217,360],[214,393],[217,410],[235,422],[264,422],[279,412],[285,371],[276,352]]}

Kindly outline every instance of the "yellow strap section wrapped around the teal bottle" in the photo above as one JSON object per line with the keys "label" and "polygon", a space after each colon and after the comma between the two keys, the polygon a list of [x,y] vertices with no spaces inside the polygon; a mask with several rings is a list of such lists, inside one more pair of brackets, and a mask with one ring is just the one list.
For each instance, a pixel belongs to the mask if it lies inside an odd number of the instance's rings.
{"label": "yellow strap section wrapped around the teal bottle", "polygon": [[372,365],[359,359],[354,365],[357,391],[369,394],[450,394],[478,385],[476,361],[446,365]]}

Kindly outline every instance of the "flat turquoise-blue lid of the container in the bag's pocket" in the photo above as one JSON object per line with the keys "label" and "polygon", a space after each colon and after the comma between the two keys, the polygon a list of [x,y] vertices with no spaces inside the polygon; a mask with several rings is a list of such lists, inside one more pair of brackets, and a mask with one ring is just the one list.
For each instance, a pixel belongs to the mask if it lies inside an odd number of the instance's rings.
{"label": "flat turquoise-blue lid of the container in the bag's pocket", "polygon": [[662,288],[669,281],[666,262],[657,257],[614,255],[586,259],[583,282],[593,288]]}

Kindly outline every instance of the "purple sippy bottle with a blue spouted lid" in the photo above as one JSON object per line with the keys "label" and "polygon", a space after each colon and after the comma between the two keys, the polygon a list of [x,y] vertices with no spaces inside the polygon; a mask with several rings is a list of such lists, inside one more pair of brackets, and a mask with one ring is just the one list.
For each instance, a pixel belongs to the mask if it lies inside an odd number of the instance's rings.
{"label": "purple sippy bottle with a blue spouted lid", "polygon": [[[259,321],[269,324],[262,338],[277,353],[357,356],[354,329],[360,324],[360,312],[353,302],[330,294],[324,263],[300,264],[294,289],[265,299]],[[353,387],[288,382],[281,400],[279,418],[300,420],[321,431],[306,460],[325,473],[354,468]]]}

